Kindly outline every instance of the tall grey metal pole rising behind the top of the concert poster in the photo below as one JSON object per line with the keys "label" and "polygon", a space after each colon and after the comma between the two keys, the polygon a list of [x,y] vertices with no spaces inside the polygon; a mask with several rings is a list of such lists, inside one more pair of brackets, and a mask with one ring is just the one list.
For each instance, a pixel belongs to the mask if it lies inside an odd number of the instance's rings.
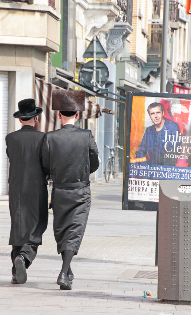
{"label": "tall grey metal pole rising behind the top of the concert poster", "polygon": [[166,92],[168,15],[169,15],[169,0],[164,0],[161,66],[160,66],[160,92]]}

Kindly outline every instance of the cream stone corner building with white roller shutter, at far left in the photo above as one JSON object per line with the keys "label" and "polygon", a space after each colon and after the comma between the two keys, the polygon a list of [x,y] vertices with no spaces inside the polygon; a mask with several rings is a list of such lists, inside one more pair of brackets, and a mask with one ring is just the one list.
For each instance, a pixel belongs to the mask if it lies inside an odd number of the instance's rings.
{"label": "cream stone corner building with white roller shutter, at far left", "polygon": [[59,45],[60,0],[0,1],[0,195],[7,194],[5,135],[20,129],[13,113],[34,98],[35,76],[48,79],[49,52]]}

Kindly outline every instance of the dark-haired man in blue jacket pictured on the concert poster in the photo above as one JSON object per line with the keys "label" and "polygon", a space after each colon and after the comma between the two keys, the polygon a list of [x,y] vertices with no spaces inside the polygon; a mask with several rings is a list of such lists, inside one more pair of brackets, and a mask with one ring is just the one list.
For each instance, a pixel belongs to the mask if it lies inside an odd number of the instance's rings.
{"label": "dark-haired man in blue jacket pictured on the concert poster", "polygon": [[176,165],[177,159],[166,158],[166,154],[176,148],[173,141],[180,134],[178,124],[164,118],[164,108],[160,103],[151,103],[147,111],[153,125],[145,130],[136,158],[146,157],[147,164]]}

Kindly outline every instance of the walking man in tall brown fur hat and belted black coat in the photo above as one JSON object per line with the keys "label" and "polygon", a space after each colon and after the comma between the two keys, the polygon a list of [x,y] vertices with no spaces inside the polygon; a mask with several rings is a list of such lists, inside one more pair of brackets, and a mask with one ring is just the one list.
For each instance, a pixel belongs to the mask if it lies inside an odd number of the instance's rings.
{"label": "walking man in tall brown fur hat and belted black coat", "polygon": [[54,235],[63,264],[57,279],[61,289],[72,289],[70,263],[78,253],[91,204],[90,173],[98,169],[98,150],[91,130],[74,126],[85,110],[85,92],[57,89],[52,109],[59,111],[63,127],[48,132],[42,146],[42,163],[53,180]]}

